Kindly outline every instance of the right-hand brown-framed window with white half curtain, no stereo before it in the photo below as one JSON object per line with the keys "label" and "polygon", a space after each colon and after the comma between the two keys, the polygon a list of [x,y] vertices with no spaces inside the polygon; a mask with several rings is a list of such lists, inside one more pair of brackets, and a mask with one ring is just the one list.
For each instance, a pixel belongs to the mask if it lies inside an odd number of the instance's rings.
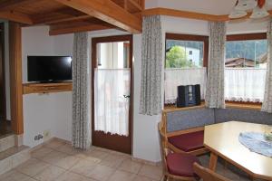
{"label": "right-hand brown-framed window with white half curtain, no stereo before it", "polygon": [[266,33],[228,35],[225,60],[225,98],[262,102],[267,72]]}

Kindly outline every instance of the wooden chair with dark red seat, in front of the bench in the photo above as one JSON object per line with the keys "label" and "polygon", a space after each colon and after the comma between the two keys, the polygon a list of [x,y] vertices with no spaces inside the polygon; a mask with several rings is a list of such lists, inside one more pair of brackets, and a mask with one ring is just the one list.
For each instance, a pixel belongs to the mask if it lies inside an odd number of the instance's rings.
{"label": "wooden chair with dark red seat, in front of the bench", "polygon": [[173,153],[166,142],[162,131],[162,123],[159,125],[160,151],[164,181],[168,179],[193,181],[198,180],[194,174],[193,163],[199,163],[198,157],[188,153]]}

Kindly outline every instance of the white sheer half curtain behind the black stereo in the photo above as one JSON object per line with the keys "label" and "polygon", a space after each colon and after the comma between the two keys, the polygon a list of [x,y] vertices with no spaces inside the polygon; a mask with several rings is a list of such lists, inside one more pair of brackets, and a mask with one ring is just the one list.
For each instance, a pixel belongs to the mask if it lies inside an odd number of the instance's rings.
{"label": "white sheer half curtain behind the black stereo", "polygon": [[173,104],[177,100],[177,87],[180,85],[200,84],[201,99],[205,98],[207,72],[206,68],[165,69],[164,100]]}

